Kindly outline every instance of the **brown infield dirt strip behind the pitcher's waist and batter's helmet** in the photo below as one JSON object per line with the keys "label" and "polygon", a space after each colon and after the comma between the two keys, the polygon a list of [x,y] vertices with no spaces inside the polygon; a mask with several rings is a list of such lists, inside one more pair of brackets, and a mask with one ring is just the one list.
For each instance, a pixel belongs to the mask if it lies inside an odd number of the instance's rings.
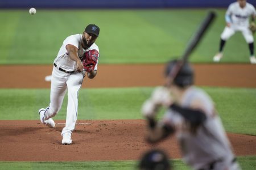
{"label": "brown infield dirt strip behind the pitcher's waist and batter's helmet", "polygon": [[[195,68],[197,86],[256,87],[256,66],[250,64],[202,64]],[[159,86],[164,82],[163,64],[99,65],[94,79],[84,81],[82,87],[143,87]],[[44,80],[51,75],[52,66],[0,66],[0,88],[49,88]]]}

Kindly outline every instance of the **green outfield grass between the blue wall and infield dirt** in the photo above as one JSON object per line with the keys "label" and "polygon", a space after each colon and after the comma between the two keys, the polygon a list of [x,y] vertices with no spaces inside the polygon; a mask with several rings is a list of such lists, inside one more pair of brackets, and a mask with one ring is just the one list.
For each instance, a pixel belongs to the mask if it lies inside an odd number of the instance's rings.
{"label": "green outfield grass between the blue wall and infield dirt", "polygon": [[[164,63],[176,58],[208,9],[167,10],[0,10],[0,64],[52,63],[65,37],[89,23],[100,26],[101,63]],[[212,62],[225,26],[225,10],[191,57]],[[189,17],[188,17],[189,16]],[[164,21],[164,22],[163,22]],[[249,62],[241,33],[227,42],[222,62]]]}

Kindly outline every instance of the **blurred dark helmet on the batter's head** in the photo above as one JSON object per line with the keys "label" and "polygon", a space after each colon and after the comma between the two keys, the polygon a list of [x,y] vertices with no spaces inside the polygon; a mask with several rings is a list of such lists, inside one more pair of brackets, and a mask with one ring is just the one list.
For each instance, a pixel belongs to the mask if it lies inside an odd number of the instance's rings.
{"label": "blurred dark helmet on the batter's head", "polygon": [[[172,76],[170,73],[175,68],[177,60],[170,61],[166,67],[166,77]],[[194,83],[194,71],[189,65],[188,62],[185,62],[184,65],[180,68],[179,72],[175,76],[173,83],[179,87],[186,87]]]}

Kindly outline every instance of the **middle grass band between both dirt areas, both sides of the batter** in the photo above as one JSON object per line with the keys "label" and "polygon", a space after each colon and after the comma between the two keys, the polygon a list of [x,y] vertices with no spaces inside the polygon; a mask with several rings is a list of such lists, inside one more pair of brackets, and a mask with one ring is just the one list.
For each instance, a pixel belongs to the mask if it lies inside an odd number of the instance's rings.
{"label": "middle grass band between both dirt areas, both sides of the batter", "polygon": [[[212,96],[225,129],[256,135],[254,88],[204,89]],[[152,88],[89,88],[79,94],[79,120],[141,119],[141,105]],[[38,120],[38,109],[49,104],[49,90],[0,89],[0,120]],[[65,120],[67,96],[55,120]]]}

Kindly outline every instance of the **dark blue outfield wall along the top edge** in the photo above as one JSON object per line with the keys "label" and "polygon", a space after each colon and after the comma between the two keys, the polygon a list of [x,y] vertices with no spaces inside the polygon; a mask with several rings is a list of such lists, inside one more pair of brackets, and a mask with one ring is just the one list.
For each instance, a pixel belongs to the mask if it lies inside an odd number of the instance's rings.
{"label": "dark blue outfield wall along the top edge", "polygon": [[[200,8],[228,7],[236,0],[0,0],[0,8]],[[256,6],[255,0],[247,0]]]}

